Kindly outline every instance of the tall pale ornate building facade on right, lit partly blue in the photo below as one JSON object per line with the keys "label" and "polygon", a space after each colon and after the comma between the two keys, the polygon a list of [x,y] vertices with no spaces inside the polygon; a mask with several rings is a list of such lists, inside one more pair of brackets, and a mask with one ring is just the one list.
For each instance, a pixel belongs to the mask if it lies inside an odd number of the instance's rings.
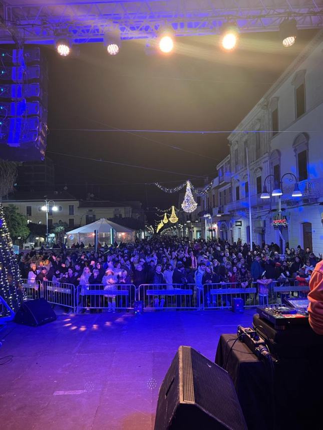
{"label": "tall pale ornate building facade on right, lit partly blue", "polygon": [[[229,135],[230,154],[217,165],[219,237],[322,252],[322,52],[323,30]],[[279,197],[261,198],[264,185],[269,194],[281,188],[281,212]],[[276,229],[278,218],[288,227]]]}

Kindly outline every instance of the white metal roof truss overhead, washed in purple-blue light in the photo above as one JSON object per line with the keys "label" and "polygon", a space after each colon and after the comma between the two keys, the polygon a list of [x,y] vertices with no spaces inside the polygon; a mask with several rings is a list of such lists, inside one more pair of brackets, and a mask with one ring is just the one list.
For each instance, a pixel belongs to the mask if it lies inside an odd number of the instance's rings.
{"label": "white metal roof truss overhead, washed in purple-blue light", "polygon": [[0,43],[53,43],[64,34],[73,43],[103,41],[119,27],[121,38],[154,38],[172,26],[175,35],[219,33],[224,22],[242,32],[277,31],[287,17],[299,29],[323,26],[323,0],[150,0],[1,2]]}

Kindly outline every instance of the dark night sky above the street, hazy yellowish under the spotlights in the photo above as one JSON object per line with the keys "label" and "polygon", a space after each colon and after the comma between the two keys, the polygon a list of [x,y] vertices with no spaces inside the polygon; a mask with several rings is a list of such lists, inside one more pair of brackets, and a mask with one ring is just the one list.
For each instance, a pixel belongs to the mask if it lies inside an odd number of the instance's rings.
{"label": "dark night sky above the street, hazy yellowish under the spotlights", "polygon": [[244,33],[233,52],[221,51],[216,36],[181,37],[169,56],[146,55],[140,40],[123,41],[116,56],[101,43],[81,45],[79,56],[67,58],[48,49],[47,154],[56,163],[56,183],[67,183],[79,198],[88,189],[97,198],[177,205],[177,194],[143,183],[175,186],[200,176],[193,179],[199,185],[203,176],[214,177],[217,162],[228,153],[228,134],[55,129],[232,130],[313,35],[313,30],[299,31],[296,43],[286,49],[278,33]]}

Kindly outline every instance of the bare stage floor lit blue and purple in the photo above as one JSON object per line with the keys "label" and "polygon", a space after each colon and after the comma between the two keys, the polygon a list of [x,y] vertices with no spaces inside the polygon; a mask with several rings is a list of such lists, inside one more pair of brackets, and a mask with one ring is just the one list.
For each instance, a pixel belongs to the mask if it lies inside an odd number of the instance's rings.
{"label": "bare stage floor lit blue and purple", "polygon": [[[179,345],[214,360],[221,333],[252,324],[253,309],[71,315],[0,331],[5,430],[150,430],[158,389]],[[1,361],[3,362],[3,360]]]}

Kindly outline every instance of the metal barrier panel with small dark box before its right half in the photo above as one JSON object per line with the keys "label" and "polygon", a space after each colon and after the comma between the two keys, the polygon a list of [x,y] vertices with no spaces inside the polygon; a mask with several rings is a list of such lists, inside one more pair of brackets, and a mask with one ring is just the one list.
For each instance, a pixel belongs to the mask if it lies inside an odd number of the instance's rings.
{"label": "metal barrier panel with small dark box before its right half", "polygon": [[205,283],[201,292],[204,309],[229,308],[233,298],[242,298],[245,307],[254,307],[257,304],[257,289],[252,283],[245,288],[238,282]]}

